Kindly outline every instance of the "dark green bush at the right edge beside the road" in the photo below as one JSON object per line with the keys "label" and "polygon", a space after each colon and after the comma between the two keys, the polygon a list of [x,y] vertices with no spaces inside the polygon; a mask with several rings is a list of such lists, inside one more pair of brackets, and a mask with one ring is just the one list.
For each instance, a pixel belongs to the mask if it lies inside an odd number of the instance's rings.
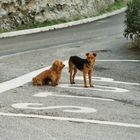
{"label": "dark green bush at the right edge beside the road", "polygon": [[124,36],[133,40],[133,45],[140,47],[140,0],[131,0],[127,4]]}

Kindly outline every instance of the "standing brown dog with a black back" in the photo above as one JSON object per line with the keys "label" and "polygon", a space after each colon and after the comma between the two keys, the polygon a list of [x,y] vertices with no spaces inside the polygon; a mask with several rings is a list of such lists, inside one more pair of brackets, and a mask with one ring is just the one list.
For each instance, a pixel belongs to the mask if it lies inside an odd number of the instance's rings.
{"label": "standing brown dog with a black back", "polygon": [[93,72],[93,64],[95,63],[96,53],[86,53],[86,59],[82,59],[78,56],[71,56],[69,59],[69,72],[70,72],[70,83],[75,84],[74,78],[77,73],[77,69],[83,72],[84,86],[87,87],[86,74],[89,77],[89,85],[93,87],[91,77]]}

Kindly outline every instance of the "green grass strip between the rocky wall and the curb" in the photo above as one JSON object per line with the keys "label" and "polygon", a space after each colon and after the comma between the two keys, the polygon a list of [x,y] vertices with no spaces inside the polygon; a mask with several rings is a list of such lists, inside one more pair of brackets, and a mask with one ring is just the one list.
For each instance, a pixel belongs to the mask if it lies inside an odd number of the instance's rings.
{"label": "green grass strip between the rocky wall and the curb", "polygon": [[[95,16],[101,15],[103,13],[111,12],[111,11],[120,9],[122,7],[125,7],[125,6],[126,6],[126,3],[123,2],[122,0],[119,0],[118,2],[115,2],[114,4],[109,5],[107,8],[102,9]],[[80,19],[80,17],[75,17],[74,18],[74,20],[79,20],[79,19]],[[59,19],[59,20],[46,21],[44,23],[29,23],[29,24],[19,25],[14,30],[0,29],[0,33],[17,31],[17,30],[24,30],[24,29],[33,29],[33,28],[39,28],[39,27],[46,27],[46,26],[56,25],[56,24],[60,24],[60,23],[66,23],[66,22],[69,22],[69,21],[72,21],[72,20]]]}

